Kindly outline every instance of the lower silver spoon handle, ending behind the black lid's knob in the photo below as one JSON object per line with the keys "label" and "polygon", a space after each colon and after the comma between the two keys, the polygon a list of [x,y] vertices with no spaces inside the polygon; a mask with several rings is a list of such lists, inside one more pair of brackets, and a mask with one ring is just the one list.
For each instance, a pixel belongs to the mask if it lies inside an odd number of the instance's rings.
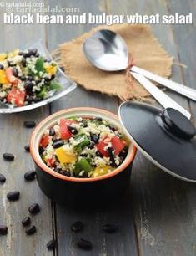
{"label": "lower silver spoon handle, ending behind the black lid's knob", "polygon": [[143,85],[143,87],[148,90],[148,92],[153,95],[153,97],[158,100],[160,105],[163,105],[163,108],[173,108],[175,110],[178,110],[183,115],[187,116],[188,119],[191,118],[191,114],[185,110],[181,105],[178,105],[176,101],[168,97],[165,93],[163,93],[162,90],[158,89],[157,86],[155,86],[153,83],[151,83],[148,79],[146,79],[142,74],[138,74],[135,72],[130,72],[135,79],[138,80],[140,84]]}

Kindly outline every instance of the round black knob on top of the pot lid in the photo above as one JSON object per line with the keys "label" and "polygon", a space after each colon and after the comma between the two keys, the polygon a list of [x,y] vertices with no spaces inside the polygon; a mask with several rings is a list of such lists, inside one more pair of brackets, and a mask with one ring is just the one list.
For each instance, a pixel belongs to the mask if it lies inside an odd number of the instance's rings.
{"label": "round black knob on top of the pot lid", "polygon": [[175,136],[190,140],[195,136],[195,128],[188,118],[178,110],[168,108],[161,114],[164,127]]}

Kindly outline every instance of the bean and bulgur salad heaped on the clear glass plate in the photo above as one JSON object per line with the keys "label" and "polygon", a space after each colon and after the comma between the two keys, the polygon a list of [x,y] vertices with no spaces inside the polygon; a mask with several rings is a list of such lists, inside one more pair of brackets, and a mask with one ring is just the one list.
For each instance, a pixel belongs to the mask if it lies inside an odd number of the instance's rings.
{"label": "bean and bulgur salad heaped on the clear glass plate", "polygon": [[55,79],[57,64],[38,49],[0,54],[0,100],[12,107],[47,99],[61,88]]}

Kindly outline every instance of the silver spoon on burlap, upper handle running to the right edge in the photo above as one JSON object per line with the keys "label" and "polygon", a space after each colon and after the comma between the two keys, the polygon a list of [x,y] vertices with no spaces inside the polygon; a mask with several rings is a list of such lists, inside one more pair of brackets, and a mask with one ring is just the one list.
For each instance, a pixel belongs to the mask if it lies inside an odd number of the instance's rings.
{"label": "silver spoon on burlap, upper handle running to the right edge", "polygon": [[[128,66],[128,48],[123,38],[111,30],[102,29],[87,38],[83,43],[83,52],[87,59],[97,68],[106,71],[119,71]],[[178,84],[169,79],[164,79],[158,74],[140,69],[133,65],[130,69],[138,74],[143,74],[158,84],[163,84],[189,99],[196,100],[196,90]]]}

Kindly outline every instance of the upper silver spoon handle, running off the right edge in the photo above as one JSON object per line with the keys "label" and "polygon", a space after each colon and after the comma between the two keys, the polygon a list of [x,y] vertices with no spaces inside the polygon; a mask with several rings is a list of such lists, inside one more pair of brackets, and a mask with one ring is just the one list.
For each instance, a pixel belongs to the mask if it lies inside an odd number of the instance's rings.
{"label": "upper silver spoon handle, running off the right edge", "polygon": [[148,79],[151,79],[151,80],[157,82],[158,84],[162,84],[165,87],[168,87],[169,89],[174,90],[174,91],[178,92],[179,94],[184,95],[184,96],[188,97],[189,99],[196,101],[196,90],[194,90],[192,88],[184,86],[183,84],[178,84],[169,79],[164,79],[163,77],[159,76],[158,74],[153,74],[147,70],[140,69],[136,66],[133,66],[131,68],[131,70],[138,74],[143,74],[143,76],[147,77]]}

